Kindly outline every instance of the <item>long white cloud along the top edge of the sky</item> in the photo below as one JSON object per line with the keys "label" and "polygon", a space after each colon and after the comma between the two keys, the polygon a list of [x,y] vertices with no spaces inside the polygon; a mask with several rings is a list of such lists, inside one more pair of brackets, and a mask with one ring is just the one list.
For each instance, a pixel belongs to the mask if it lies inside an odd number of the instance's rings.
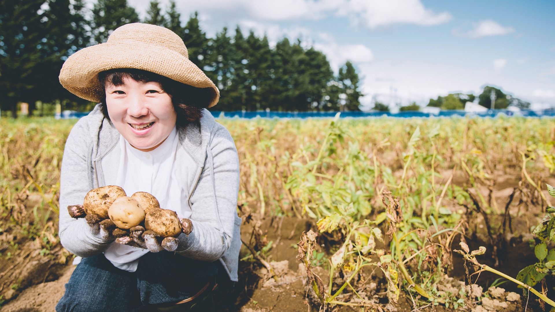
{"label": "long white cloud along the top edge of the sky", "polygon": [[[92,0],[89,0],[92,1]],[[134,0],[133,6],[144,16],[149,0]],[[161,1],[162,7],[168,0]],[[199,11],[210,23],[243,19],[259,22],[318,20],[346,16],[371,30],[395,24],[437,25],[452,19],[448,12],[435,13],[420,0],[180,0],[178,8],[187,17]]]}

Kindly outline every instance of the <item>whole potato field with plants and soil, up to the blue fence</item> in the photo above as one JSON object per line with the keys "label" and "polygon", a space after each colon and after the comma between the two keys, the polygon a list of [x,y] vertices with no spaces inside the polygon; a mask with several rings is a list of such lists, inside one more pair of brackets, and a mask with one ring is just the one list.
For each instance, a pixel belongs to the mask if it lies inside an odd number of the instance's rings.
{"label": "whole potato field with plants and soil, up to the blue fence", "polygon": [[[219,122],[239,152],[244,221],[226,310],[549,309],[528,291],[555,286],[552,119]],[[52,309],[37,292],[52,283],[59,298],[73,269],[57,214],[74,123],[0,120],[2,311]]]}

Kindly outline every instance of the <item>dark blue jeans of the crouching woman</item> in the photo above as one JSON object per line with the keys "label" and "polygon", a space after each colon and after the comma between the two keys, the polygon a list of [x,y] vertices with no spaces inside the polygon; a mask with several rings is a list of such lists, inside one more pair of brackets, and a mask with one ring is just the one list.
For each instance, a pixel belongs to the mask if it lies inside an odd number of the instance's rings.
{"label": "dark blue jeans of the crouching woman", "polygon": [[56,305],[65,311],[151,311],[198,293],[218,274],[216,262],[204,262],[162,250],[139,259],[137,271],[115,268],[104,254],[83,258]]}

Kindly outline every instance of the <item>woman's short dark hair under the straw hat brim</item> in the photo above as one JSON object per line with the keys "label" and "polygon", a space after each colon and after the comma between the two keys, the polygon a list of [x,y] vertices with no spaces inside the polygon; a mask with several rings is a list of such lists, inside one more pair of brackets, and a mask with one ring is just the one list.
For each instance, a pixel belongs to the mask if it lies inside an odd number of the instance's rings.
{"label": "woman's short dark hair under the straw hat brim", "polygon": [[[199,122],[200,118],[203,117],[204,108],[210,104],[211,88],[195,88],[168,77],[135,68],[117,68],[98,73],[98,80],[103,90],[107,84],[122,85],[123,79],[126,77],[137,82],[158,82],[162,89],[171,95],[171,103],[177,113],[175,123],[180,127]],[[106,118],[110,119],[106,107],[105,92],[103,98],[104,102],[100,103],[100,111]]]}

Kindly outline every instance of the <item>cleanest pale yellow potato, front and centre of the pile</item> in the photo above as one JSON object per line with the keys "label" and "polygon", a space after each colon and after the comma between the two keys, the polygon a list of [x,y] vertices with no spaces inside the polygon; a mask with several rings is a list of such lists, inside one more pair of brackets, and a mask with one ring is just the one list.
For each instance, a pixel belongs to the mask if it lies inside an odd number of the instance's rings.
{"label": "cleanest pale yellow potato, front and centre of the pile", "polygon": [[137,227],[144,220],[143,207],[131,197],[120,197],[108,209],[110,220],[120,229]]}

